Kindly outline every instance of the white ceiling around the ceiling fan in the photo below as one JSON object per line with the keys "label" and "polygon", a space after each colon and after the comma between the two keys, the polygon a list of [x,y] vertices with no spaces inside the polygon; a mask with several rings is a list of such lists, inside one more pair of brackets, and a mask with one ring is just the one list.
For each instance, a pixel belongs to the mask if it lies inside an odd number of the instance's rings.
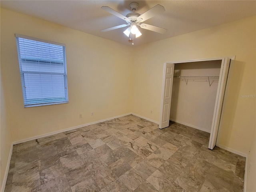
{"label": "white ceiling around the ceiling fan", "polygon": [[164,6],[163,14],[145,23],[168,29],[165,34],[140,29],[142,36],[134,40],[134,46],[256,15],[255,0],[1,0],[0,3],[1,7],[9,10],[132,46],[123,33],[127,27],[101,32],[105,28],[126,24],[124,20],[102,10],[101,6],[109,6],[126,15],[132,12],[129,7],[131,2],[138,2],[136,12],[140,14],[157,4]]}

